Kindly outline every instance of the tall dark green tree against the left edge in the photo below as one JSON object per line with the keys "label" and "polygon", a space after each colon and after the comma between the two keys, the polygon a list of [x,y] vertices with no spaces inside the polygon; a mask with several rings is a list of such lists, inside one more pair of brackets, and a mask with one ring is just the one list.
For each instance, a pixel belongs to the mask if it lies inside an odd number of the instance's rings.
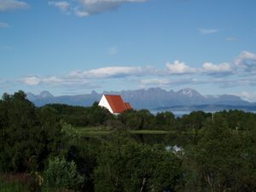
{"label": "tall dark green tree against the left edge", "polygon": [[35,107],[22,91],[5,94],[0,105],[1,171],[24,172],[36,169],[41,145],[38,143],[40,123]]}

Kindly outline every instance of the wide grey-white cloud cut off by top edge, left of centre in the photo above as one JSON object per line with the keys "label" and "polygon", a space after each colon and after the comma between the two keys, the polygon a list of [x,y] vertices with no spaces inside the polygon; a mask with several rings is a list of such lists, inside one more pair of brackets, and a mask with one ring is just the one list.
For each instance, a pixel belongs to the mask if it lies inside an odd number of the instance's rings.
{"label": "wide grey-white cloud cut off by top edge, left of centre", "polygon": [[84,17],[117,9],[124,3],[143,3],[147,1],[149,0],[69,0],[63,2],[51,1],[49,5],[62,9],[64,13],[68,11],[79,17]]}

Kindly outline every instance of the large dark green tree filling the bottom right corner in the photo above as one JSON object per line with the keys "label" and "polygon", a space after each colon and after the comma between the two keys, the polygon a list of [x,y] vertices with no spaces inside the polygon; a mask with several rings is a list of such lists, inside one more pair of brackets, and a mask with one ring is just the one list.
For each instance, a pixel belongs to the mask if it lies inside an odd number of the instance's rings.
{"label": "large dark green tree filling the bottom right corner", "polygon": [[[255,143],[232,131],[218,116],[202,130],[200,141],[186,154],[186,189],[193,191],[253,191],[256,189]],[[255,140],[254,140],[255,141]],[[253,142],[253,141],[251,141]]]}

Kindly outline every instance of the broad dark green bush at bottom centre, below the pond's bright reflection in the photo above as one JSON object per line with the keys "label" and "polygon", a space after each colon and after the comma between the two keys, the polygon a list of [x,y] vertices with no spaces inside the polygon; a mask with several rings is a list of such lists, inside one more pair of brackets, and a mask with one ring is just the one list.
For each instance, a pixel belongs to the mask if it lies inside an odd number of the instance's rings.
{"label": "broad dark green bush at bottom centre, below the pond's bright reflection", "polygon": [[183,172],[175,154],[164,146],[120,139],[106,143],[97,156],[96,192],[176,191]]}

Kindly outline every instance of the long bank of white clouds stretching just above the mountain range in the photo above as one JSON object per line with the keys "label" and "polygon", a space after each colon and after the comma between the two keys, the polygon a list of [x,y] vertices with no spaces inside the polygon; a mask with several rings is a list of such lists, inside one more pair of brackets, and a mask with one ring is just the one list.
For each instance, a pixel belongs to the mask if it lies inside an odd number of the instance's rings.
{"label": "long bank of white clouds stretching just above the mountain range", "polygon": [[[167,62],[163,68],[156,67],[101,67],[73,71],[63,76],[27,76],[19,80],[27,86],[78,87],[78,89],[104,86],[108,82],[131,81],[140,87],[170,88],[181,85],[215,84],[225,89],[236,86],[256,86],[256,54],[242,51],[234,61],[214,64],[204,62],[201,67],[191,67],[183,61]],[[248,70],[251,69],[251,70]],[[253,71],[254,70],[254,71]],[[243,98],[252,99],[244,94]]]}

